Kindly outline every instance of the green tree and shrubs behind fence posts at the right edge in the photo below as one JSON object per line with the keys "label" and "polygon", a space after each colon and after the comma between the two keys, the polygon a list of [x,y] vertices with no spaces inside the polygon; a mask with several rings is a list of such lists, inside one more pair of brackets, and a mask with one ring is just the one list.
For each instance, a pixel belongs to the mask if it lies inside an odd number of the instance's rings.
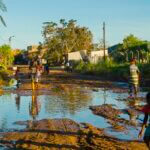
{"label": "green tree and shrubs behind fence posts at the right edge", "polygon": [[115,46],[111,56],[117,62],[127,62],[133,57],[144,62],[144,60],[147,61],[147,53],[149,52],[148,45],[149,42],[130,34],[123,39],[122,44]]}

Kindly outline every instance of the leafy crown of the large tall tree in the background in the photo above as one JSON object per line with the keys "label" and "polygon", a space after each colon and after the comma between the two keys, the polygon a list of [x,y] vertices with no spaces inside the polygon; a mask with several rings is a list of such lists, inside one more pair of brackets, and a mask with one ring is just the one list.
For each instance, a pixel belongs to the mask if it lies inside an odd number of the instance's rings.
{"label": "leafy crown of the large tall tree in the background", "polygon": [[49,62],[62,63],[69,52],[91,50],[92,33],[86,27],[76,25],[76,20],[64,19],[59,24],[45,22],[43,27],[44,45],[48,49],[45,58]]}

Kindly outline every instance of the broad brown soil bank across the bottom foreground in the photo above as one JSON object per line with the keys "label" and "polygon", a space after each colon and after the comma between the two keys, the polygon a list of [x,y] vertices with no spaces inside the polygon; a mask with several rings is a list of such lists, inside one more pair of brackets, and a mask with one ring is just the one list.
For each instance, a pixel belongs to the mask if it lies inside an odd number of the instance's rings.
{"label": "broad brown soil bank across the bottom foreground", "polygon": [[22,132],[5,133],[0,142],[11,148],[28,150],[147,150],[139,141],[121,141],[106,135],[103,129],[78,124],[69,119],[28,122]]}

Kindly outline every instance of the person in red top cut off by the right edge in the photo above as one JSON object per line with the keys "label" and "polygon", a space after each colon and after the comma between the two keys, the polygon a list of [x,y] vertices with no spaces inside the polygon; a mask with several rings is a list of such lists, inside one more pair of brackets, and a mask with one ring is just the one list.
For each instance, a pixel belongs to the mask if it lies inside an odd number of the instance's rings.
{"label": "person in red top cut off by the right edge", "polygon": [[[144,113],[144,120],[143,125],[141,128],[141,131],[139,133],[139,138],[143,136],[144,129],[146,127],[145,133],[144,133],[144,142],[147,144],[148,148],[150,148],[150,92],[146,95],[146,101],[147,105],[145,105],[142,109],[142,112]],[[149,123],[147,124],[147,121],[149,119]]]}

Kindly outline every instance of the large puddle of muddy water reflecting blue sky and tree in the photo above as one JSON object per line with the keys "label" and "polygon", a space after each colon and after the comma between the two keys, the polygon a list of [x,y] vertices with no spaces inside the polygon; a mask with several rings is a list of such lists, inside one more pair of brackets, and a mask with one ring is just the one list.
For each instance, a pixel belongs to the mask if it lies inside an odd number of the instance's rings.
{"label": "large puddle of muddy water reflecting blue sky and tree", "polygon": [[[127,127],[123,132],[114,131],[107,119],[94,115],[89,106],[112,104],[117,109],[128,108],[127,93],[115,93],[104,88],[92,89],[75,85],[61,85],[52,88],[47,94],[41,91],[26,91],[0,96],[0,132],[24,128],[17,121],[40,120],[44,118],[70,118],[77,122],[91,123],[120,139],[137,139],[139,127]],[[44,93],[44,91],[43,91]],[[140,93],[144,97],[145,93]],[[141,103],[141,102],[140,102]],[[142,101],[144,104],[144,102]],[[130,120],[128,114],[121,117]],[[135,122],[141,122],[143,115],[134,116]]]}

